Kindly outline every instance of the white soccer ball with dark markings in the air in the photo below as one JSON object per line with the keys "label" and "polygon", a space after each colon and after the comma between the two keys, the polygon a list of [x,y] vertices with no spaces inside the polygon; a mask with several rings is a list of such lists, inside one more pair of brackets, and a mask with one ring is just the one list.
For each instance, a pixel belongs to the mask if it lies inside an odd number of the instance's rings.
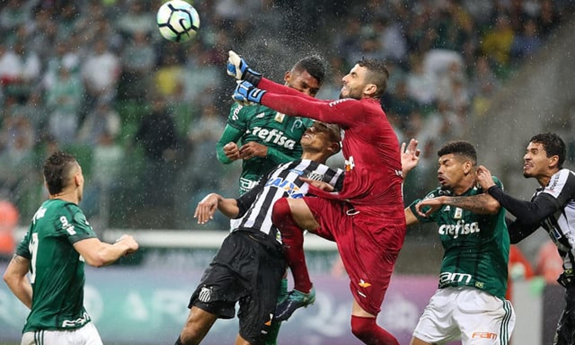
{"label": "white soccer ball with dark markings in the air", "polygon": [[189,3],[172,0],[164,3],[158,10],[158,29],[164,39],[173,42],[191,40],[200,29],[198,11]]}

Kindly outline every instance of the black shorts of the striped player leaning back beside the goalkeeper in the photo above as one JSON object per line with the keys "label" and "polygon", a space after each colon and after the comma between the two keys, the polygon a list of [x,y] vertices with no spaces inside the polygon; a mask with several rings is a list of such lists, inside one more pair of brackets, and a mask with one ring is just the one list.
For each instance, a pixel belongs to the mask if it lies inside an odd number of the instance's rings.
{"label": "black shorts of the striped player leaning back beside the goalkeeper", "polygon": [[264,233],[234,231],[205,270],[188,308],[231,319],[239,301],[240,335],[252,344],[263,343],[284,271],[281,246],[270,243]]}

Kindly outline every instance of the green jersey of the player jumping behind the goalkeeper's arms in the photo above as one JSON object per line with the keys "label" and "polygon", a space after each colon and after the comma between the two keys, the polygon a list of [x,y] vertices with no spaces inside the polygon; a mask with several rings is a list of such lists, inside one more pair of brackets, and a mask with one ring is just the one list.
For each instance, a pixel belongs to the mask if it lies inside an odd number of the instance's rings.
{"label": "green jersey of the player jumping behind the goalkeeper's arms", "polygon": [[266,158],[243,160],[240,175],[240,194],[252,189],[259,179],[279,164],[301,158],[301,136],[310,127],[309,118],[285,116],[263,105],[232,105],[224,134],[217,144],[217,156],[224,164],[231,163],[223,152],[230,141],[239,147],[250,141],[267,147]]}

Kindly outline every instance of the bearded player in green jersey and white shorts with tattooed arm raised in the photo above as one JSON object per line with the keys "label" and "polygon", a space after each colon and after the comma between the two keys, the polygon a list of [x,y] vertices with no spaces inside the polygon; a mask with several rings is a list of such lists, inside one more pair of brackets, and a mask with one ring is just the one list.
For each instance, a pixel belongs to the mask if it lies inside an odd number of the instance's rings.
{"label": "bearded player in green jersey and white shorts with tattooed arm raised", "polygon": [[[411,345],[507,344],[515,325],[505,300],[509,235],[505,210],[477,187],[475,148],[451,141],[438,151],[441,185],[405,209],[408,225],[434,222],[444,248],[439,289],[413,331]],[[493,181],[501,186],[499,179]],[[474,202],[461,202],[474,196]]]}

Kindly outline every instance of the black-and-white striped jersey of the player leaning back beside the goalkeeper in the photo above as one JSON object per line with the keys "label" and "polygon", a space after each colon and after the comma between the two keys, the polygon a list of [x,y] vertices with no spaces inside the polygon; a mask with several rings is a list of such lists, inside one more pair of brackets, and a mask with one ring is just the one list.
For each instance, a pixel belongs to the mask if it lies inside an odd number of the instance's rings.
{"label": "black-and-white striped jersey of the player leaning back beside the goalkeeper", "polygon": [[281,236],[271,222],[271,212],[279,198],[302,198],[308,193],[308,183],[300,177],[329,183],[340,190],[343,186],[343,170],[333,170],[325,164],[309,159],[284,163],[262,177],[257,186],[237,199],[240,209],[237,229],[251,229],[273,236],[281,243]]}

